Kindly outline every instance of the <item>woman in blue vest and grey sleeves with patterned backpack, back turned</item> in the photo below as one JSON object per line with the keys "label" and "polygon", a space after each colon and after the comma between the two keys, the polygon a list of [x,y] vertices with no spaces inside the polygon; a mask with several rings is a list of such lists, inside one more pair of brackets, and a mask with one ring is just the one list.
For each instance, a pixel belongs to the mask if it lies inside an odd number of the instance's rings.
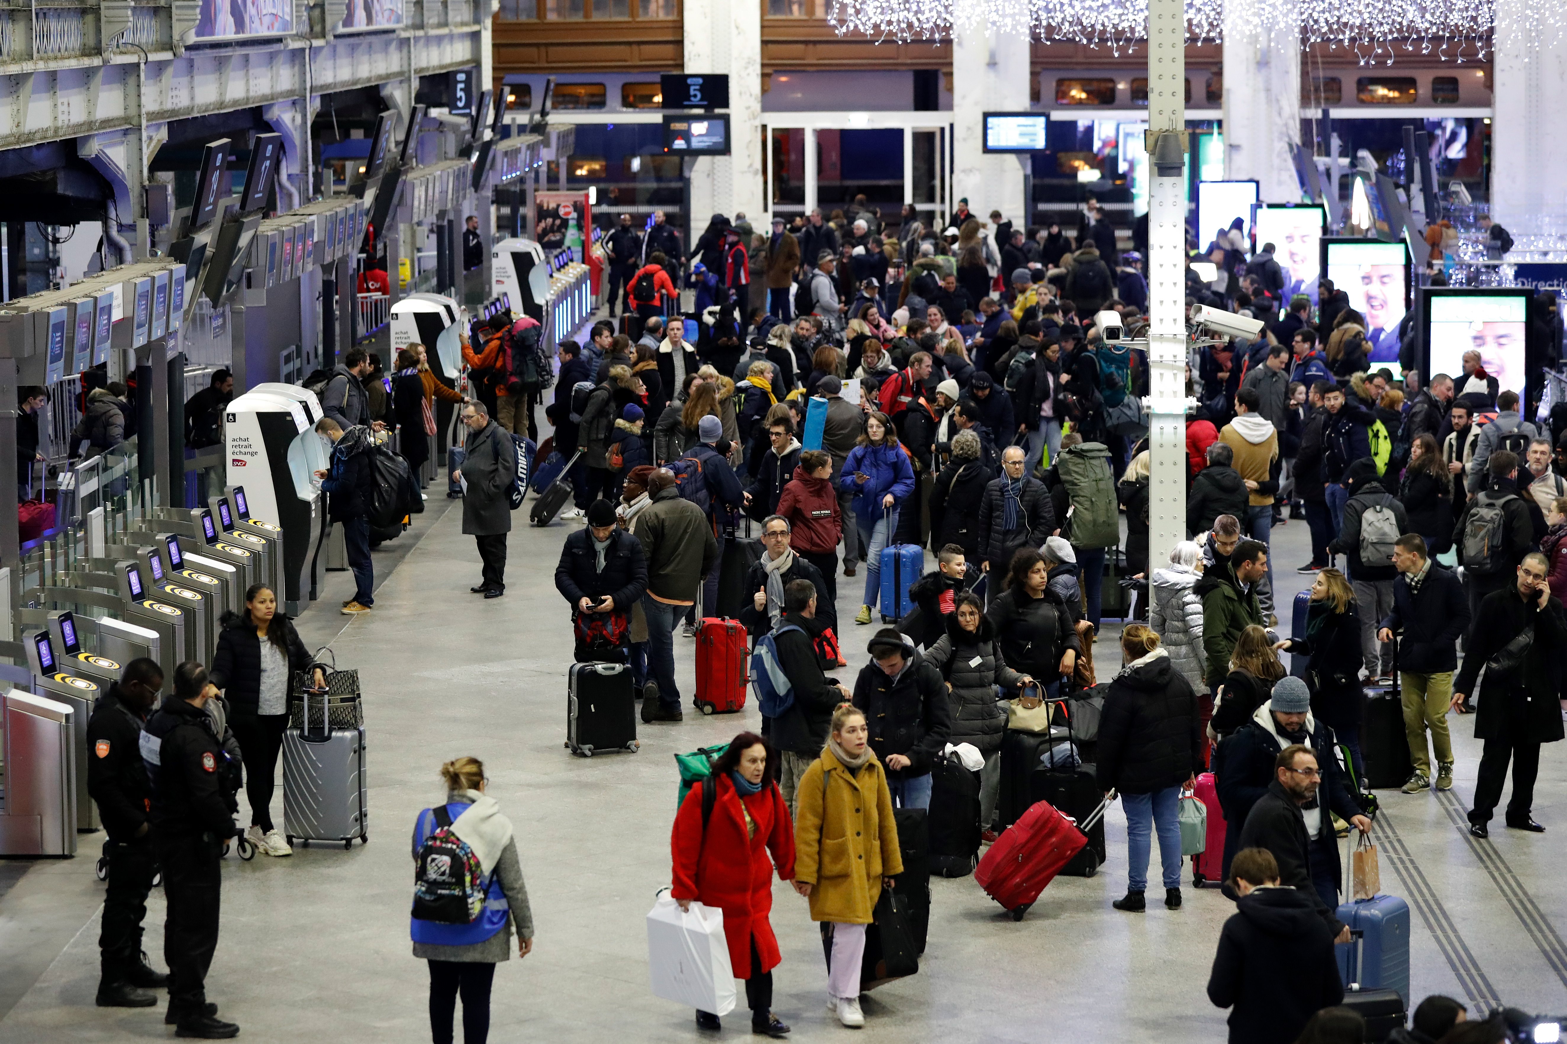
{"label": "woman in blue vest and grey sleeves with patterned backpack, back turned", "polygon": [[[440,767],[447,803],[418,814],[414,825],[414,862],[423,857],[414,890],[414,956],[429,961],[429,1033],[434,1044],[451,1044],[458,992],[462,994],[464,1044],[484,1044],[489,1036],[489,995],[495,964],[511,958],[511,934],[517,933],[517,956],[533,952],[533,914],[511,820],[495,798],[484,793],[484,763],[459,757]],[[436,836],[436,837],[431,837]],[[428,848],[426,848],[428,842]],[[450,887],[453,856],[467,850],[480,864],[484,901],[473,920],[461,906],[453,915]],[[461,879],[462,875],[456,875]],[[445,886],[445,887],[442,887]],[[461,904],[461,889],[456,890]],[[456,922],[456,923],[454,923]]]}

